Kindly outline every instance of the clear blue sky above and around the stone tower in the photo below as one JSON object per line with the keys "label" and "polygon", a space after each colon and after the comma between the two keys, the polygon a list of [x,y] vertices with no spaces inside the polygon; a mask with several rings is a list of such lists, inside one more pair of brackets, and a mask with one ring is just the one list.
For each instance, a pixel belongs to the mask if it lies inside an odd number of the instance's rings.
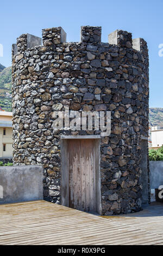
{"label": "clear blue sky above and around the stone tower", "polygon": [[80,26],[102,26],[102,41],[116,29],[144,38],[149,48],[150,107],[163,107],[162,0],[28,0],[1,1],[0,44],[4,56],[0,63],[11,65],[11,45],[16,38],[29,33],[41,36],[42,28],[64,28],[67,41],[80,40]]}

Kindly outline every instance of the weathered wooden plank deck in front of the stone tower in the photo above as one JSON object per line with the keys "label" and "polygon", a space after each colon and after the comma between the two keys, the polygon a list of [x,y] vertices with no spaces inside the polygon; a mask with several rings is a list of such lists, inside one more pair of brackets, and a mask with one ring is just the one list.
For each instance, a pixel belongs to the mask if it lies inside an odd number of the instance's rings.
{"label": "weathered wooden plank deck in front of the stone tower", "polygon": [[45,201],[0,205],[0,245],[163,245],[163,204],[116,217]]}

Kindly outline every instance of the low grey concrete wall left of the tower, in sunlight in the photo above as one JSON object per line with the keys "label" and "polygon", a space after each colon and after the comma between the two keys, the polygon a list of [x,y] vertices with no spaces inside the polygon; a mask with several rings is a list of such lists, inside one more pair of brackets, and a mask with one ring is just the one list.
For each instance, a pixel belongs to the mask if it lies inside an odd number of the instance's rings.
{"label": "low grey concrete wall left of the tower, in sunlight", "polygon": [[0,204],[43,199],[43,167],[0,167]]}

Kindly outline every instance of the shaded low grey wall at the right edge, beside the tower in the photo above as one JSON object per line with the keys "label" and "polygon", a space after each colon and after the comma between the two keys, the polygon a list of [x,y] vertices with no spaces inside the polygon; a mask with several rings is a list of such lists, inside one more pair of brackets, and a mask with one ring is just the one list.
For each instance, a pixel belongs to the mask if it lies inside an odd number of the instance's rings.
{"label": "shaded low grey wall at the right edge, beside the tower", "polygon": [[151,189],[163,185],[163,161],[150,161],[149,169]]}

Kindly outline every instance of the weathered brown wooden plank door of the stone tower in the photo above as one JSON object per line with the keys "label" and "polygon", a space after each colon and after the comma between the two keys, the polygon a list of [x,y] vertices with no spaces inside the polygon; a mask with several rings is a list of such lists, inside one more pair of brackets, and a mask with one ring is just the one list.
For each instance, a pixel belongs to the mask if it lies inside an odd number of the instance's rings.
{"label": "weathered brown wooden plank door of the stone tower", "polygon": [[69,207],[96,212],[94,139],[68,139]]}

